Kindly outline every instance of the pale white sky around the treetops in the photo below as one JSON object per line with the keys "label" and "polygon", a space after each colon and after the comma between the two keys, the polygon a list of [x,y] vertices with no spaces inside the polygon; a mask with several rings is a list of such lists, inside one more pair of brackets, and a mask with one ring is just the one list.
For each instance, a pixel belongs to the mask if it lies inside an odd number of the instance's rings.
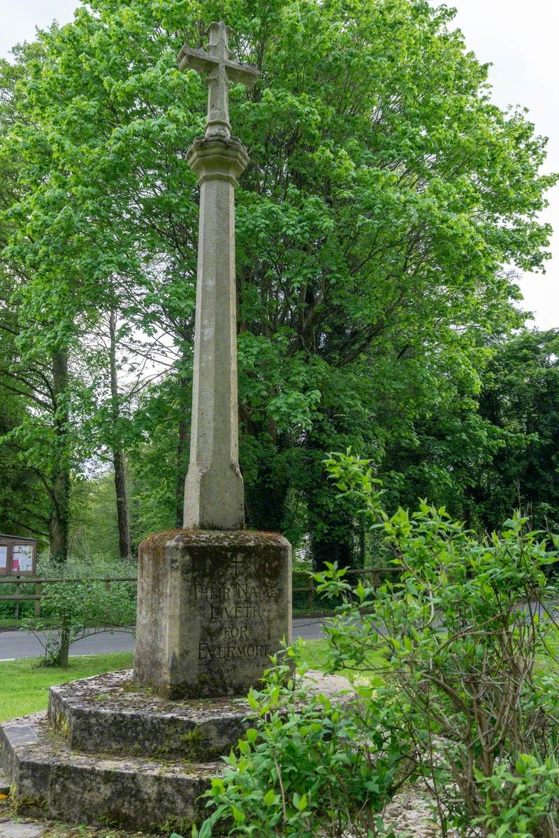
{"label": "pale white sky around the treetops", "polygon": [[[67,23],[76,5],[76,0],[0,0],[0,54],[32,39],[35,26],[53,18]],[[455,0],[453,5],[469,48],[480,61],[493,63],[494,101],[530,109],[537,132],[550,138],[546,168],[559,171],[559,0]],[[527,274],[520,283],[525,308],[535,313],[539,328],[559,326],[559,186],[548,199],[544,217],[556,229],[554,258],[544,276]]]}

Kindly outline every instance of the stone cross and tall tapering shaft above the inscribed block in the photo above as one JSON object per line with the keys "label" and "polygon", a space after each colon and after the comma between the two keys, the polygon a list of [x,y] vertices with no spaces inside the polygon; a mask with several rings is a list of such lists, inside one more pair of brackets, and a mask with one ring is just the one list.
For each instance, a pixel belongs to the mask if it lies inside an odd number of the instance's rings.
{"label": "stone cross and tall tapering shaft above the inscribed block", "polygon": [[236,365],[235,195],[249,161],[230,135],[229,85],[251,87],[256,67],[230,60],[230,28],[212,23],[210,52],[179,54],[180,70],[196,70],[209,85],[205,136],[189,147],[200,186],[198,280],[189,472],[184,528],[242,530],[245,499],[239,468]]}

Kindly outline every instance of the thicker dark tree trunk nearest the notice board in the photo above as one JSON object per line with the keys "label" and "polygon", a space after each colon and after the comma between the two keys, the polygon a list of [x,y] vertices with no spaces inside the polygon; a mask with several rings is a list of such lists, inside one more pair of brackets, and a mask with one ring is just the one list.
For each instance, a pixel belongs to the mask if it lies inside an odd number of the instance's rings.
{"label": "thicker dark tree trunk nearest the notice board", "polygon": [[52,468],[52,511],[49,523],[50,558],[57,564],[68,560],[68,521],[70,515],[70,458],[68,456],[68,423],[70,416],[65,402],[68,387],[68,350],[53,353],[54,394],[54,458]]}

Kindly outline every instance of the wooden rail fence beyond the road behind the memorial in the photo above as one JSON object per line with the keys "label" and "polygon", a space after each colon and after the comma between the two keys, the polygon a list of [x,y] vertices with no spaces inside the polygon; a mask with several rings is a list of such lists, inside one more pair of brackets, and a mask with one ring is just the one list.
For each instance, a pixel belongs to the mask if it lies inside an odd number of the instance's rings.
{"label": "wooden rail fence beyond the road behind the memorial", "polygon": [[[382,578],[386,574],[397,574],[400,572],[399,567],[373,567],[367,570],[352,569],[346,572],[346,577],[366,578],[370,577],[370,586],[379,587]],[[295,585],[298,579],[303,578],[307,584],[304,587],[293,587],[293,593],[306,593],[308,610],[312,611],[315,606],[316,596],[316,582],[313,577],[308,575],[307,571],[294,571],[293,584]],[[74,579],[69,577],[0,577],[0,585],[15,585],[16,591],[7,596],[0,596],[0,603],[13,602],[15,604],[15,618],[19,617],[19,603],[34,602],[35,616],[39,617],[41,613],[41,598],[43,594],[43,585],[46,584],[66,584],[78,585],[80,582],[104,582],[108,587],[113,582],[137,582],[137,577],[90,577]],[[34,585],[34,593],[20,593],[22,585]]]}

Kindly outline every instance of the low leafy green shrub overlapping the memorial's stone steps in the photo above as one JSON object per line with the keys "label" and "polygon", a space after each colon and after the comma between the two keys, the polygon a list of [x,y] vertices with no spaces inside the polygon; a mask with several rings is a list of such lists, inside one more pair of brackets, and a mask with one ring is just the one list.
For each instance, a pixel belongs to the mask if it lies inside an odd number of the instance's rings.
{"label": "low leafy green shrub overlapping the memorial's stone steps", "polygon": [[227,826],[229,834],[261,838],[380,834],[403,757],[391,713],[372,700],[360,712],[341,706],[343,696],[333,701],[310,691],[304,669],[292,671],[301,653],[295,646],[285,662],[272,658],[264,688],[251,690],[255,727],[212,781],[206,796],[213,811],[193,830],[196,838]]}

